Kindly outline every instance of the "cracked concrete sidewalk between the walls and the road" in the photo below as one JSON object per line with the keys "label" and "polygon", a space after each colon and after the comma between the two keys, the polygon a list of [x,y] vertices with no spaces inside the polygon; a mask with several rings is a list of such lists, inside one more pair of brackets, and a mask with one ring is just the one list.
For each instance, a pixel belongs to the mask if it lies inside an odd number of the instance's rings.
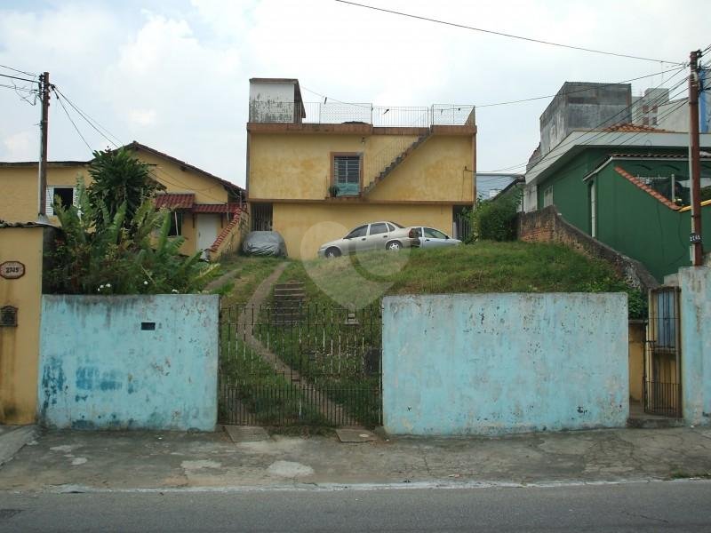
{"label": "cracked concrete sidewalk between the walls and the road", "polygon": [[0,490],[247,489],[354,484],[643,481],[711,475],[711,428],[498,438],[44,432],[0,467]]}

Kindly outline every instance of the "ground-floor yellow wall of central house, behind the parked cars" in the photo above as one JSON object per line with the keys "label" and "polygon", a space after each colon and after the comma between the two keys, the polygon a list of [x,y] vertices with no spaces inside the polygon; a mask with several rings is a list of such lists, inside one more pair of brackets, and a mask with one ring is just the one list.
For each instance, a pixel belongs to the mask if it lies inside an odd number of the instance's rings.
{"label": "ground-floor yellow wall of central house, behind the parked cars", "polygon": [[286,242],[290,258],[313,259],[321,244],[340,239],[367,222],[392,220],[401,226],[423,225],[451,235],[451,205],[275,203],[274,230]]}

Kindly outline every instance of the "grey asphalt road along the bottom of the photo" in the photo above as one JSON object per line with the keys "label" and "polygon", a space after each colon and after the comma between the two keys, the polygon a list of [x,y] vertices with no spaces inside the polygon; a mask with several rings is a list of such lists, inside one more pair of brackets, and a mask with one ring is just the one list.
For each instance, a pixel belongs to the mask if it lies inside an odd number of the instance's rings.
{"label": "grey asphalt road along the bottom of the photo", "polygon": [[0,494],[0,531],[709,531],[711,481]]}

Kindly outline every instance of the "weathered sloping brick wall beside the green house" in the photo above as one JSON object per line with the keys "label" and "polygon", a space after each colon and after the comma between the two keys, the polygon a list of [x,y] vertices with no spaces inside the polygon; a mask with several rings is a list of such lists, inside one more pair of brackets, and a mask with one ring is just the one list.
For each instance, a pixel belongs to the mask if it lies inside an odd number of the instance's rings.
{"label": "weathered sloping brick wall beside the green house", "polygon": [[603,259],[629,284],[645,292],[659,285],[642,263],[622,255],[572,226],[556,211],[555,205],[549,205],[541,211],[520,213],[517,224],[521,241],[564,244],[589,258]]}

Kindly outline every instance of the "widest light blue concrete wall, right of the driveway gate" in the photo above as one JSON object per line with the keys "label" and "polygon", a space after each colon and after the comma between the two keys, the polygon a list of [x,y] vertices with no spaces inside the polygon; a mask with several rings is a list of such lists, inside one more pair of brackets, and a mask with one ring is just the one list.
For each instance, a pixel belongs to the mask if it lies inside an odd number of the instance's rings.
{"label": "widest light blue concrete wall, right of the driveway gate", "polygon": [[383,307],[390,434],[627,423],[626,294],[403,296]]}

